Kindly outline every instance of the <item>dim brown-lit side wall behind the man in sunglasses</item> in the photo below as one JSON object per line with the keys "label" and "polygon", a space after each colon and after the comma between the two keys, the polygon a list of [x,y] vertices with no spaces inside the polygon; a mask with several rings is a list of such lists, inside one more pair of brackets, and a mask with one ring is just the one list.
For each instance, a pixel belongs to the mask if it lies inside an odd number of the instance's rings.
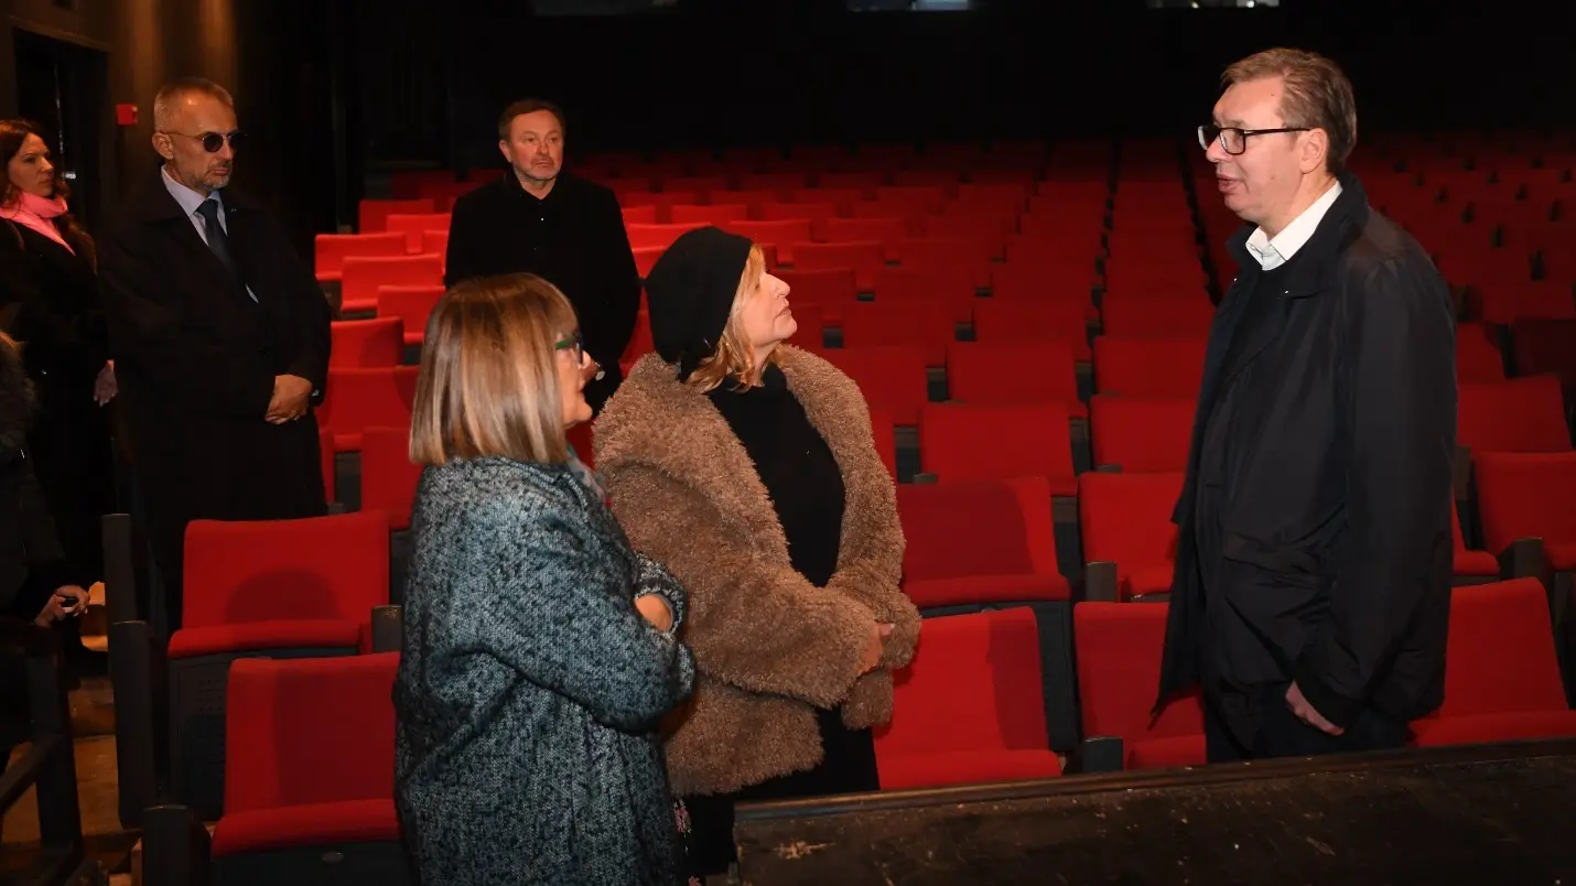
{"label": "dim brown-lit side wall behind the man in sunglasses", "polygon": [[[337,2],[337,0],[334,0]],[[41,36],[101,52],[106,101],[98,191],[104,208],[158,167],[148,139],[153,95],[165,79],[203,76],[236,99],[252,143],[235,188],[274,207],[304,255],[310,233],[333,221],[333,134],[326,9],[331,0],[0,0],[0,115],[17,109],[16,39]],[[113,106],[136,104],[136,126]],[[91,175],[80,170],[80,175]]]}

